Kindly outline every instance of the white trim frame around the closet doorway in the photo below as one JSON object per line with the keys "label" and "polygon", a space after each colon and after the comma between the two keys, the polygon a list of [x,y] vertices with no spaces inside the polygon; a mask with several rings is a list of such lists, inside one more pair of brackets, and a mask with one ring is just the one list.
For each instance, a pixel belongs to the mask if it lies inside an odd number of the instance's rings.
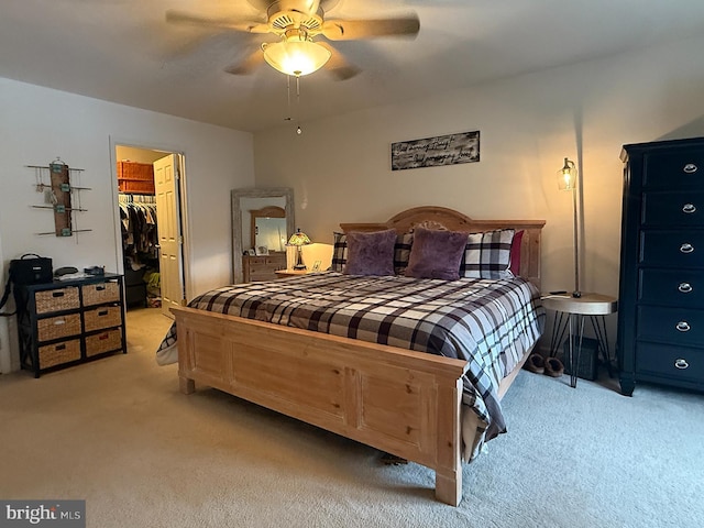
{"label": "white trim frame around the closet doorway", "polygon": [[193,298],[190,292],[190,285],[193,284],[190,279],[190,233],[189,233],[189,220],[188,220],[188,199],[187,199],[187,188],[188,185],[186,183],[186,154],[183,148],[155,144],[155,143],[145,143],[143,141],[136,141],[124,138],[113,138],[110,136],[110,173],[112,175],[112,202],[114,204],[113,210],[113,234],[114,234],[114,260],[116,260],[116,268],[119,274],[124,274],[124,256],[122,252],[122,228],[120,220],[120,205],[119,205],[119,189],[118,189],[118,160],[117,160],[117,147],[118,146],[129,146],[132,148],[142,148],[145,151],[157,151],[163,152],[164,155],[175,154],[178,156],[178,212],[180,218],[180,233],[184,239],[184,243],[182,244],[183,252],[183,280],[184,280],[184,294],[186,296],[186,300]]}

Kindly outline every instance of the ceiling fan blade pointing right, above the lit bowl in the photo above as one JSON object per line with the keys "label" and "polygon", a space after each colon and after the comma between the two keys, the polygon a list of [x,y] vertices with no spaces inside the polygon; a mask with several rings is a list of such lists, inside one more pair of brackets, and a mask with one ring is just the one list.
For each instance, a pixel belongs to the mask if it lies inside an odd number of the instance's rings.
{"label": "ceiling fan blade pointing right, above the lit bowl", "polygon": [[331,41],[354,41],[380,36],[416,36],[420,31],[417,14],[394,19],[327,20],[322,35]]}

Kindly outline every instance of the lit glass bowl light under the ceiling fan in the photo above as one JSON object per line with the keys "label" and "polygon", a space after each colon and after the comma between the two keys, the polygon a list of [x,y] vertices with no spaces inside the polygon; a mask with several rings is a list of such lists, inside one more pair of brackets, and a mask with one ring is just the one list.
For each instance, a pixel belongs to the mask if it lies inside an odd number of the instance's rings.
{"label": "lit glass bowl light under the ceiling fan", "polygon": [[262,44],[264,59],[282,74],[300,77],[322,68],[331,53],[310,40],[286,38]]}

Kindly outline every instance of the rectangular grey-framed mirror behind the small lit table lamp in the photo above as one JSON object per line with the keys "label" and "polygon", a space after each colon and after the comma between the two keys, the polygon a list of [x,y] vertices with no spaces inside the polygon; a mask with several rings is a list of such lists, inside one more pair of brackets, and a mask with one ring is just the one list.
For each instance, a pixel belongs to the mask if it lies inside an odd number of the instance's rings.
{"label": "rectangular grey-framed mirror behind the small lit table lamp", "polygon": [[[275,232],[276,241],[284,238],[285,242],[288,242],[288,238],[294,233],[294,189],[289,187],[234,189],[231,193],[231,199],[232,282],[241,283],[242,254],[257,246],[257,227],[262,235]],[[280,212],[275,212],[274,208],[283,210],[284,216],[276,217],[275,215],[280,215]],[[264,212],[260,215],[257,211]],[[280,234],[279,231],[282,231]],[[285,242],[283,245],[276,244],[274,241],[258,245],[268,248],[268,251],[279,251],[280,248],[286,251]]]}

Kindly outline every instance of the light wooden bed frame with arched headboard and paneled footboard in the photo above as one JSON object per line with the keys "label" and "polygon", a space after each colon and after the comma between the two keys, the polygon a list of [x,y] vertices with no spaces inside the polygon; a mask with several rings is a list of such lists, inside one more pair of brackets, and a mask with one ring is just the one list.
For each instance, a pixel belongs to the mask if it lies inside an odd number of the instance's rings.
{"label": "light wooden bed frame with arched headboard and paneled footboard", "polygon": [[[524,230],[520,275],[540,287],[542,220],[477,221],[451,209],[419,207],[384,223],[341,228],[403,233],[418,224]],[[457,506],[462,499],[464,361],[193,308],[172,311],[184,394],[198,382],[426,465],[436,471],[439,501]],[[504,378],[499,396],[521,365]]]}

